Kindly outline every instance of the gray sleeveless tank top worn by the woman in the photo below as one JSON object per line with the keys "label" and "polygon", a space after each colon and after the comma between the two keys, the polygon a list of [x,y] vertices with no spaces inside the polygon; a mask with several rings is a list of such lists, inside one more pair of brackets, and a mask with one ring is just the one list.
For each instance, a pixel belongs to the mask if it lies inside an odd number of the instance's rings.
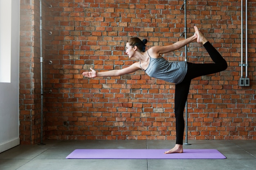
{"label": "gray sleeveless tank top worn by the woman", "polygon": [[187,63],[186,61],[168,62],[163,57],[157,59],[150,57],[148,68],[144,71],[150,77],[179,84],[186,75]]}

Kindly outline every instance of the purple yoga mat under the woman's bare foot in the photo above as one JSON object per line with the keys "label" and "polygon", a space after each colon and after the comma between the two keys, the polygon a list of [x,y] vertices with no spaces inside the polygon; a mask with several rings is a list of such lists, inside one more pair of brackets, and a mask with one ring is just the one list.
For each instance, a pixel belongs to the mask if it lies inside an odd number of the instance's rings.
{"label": "purple yoga mat under the woman's bare foot", "polygon": [[225,159],[216,149],[184,149],[164,154],[166,149],[76,149],[66,159]]}

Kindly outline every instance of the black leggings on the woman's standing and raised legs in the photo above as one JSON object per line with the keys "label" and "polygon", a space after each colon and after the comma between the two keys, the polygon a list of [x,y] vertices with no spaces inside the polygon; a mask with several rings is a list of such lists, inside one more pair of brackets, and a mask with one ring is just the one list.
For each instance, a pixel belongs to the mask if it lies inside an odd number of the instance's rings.
{"label": "black leggings on the woman's standing and raised legs", "polygon": [[195,64],[188,63],[184,80],[175,85],[175,118],[176,118],[176,144],[183,144],[184,117],[183,112],[189,94],[189,86],[193,78],[221,72],[227,69],[227,62],[220,53],[207,41],[204,48],[209,53],[214,63]]}

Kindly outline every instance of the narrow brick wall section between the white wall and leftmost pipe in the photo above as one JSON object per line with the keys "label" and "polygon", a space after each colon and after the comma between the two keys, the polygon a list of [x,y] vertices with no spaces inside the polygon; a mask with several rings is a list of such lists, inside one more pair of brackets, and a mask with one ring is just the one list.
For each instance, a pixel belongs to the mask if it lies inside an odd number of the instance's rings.
{"label": "narrow brick wall section between the white wall and leftmost pipe", "polygon": [[40,4],[20,1],[20,143],[40,141]]}

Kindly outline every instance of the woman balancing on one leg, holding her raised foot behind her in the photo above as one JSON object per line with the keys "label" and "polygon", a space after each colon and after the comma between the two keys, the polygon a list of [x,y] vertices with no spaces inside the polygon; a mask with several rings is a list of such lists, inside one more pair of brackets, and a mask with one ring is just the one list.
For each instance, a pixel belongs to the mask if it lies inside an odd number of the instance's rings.
{"label": "woman balancing on one leg, holding her raised foot behind her", "polygon": [[[159,78],[164,81],[175,83],[175,118],[176,118],[176,144],[164,153],[183,153],[183,135],[184,135],[184,107],[189,94],[191,80],[198,76],[213,74],[227,69],[227,62],[220,53],[209,43],[201,31],[194,26],[195,34],[192,37],[178,41],[169,46],[153,46],[145,51],[147,40],[141,41],[139,38],[131,38],[126,43],[126,54],[129,58],[136,58],[139,62],[133,63],[127,68],[121,70],[110,70],[106,72],[83,72],[83,76],[94,78],[97,76],[121,76],[137,70],[144,70],[149,76]],[[186,44],[197,40],[202,43],[209,53],[214,63],[195,64],[186,61],[168,62],[161,54],[168,53]]]}

